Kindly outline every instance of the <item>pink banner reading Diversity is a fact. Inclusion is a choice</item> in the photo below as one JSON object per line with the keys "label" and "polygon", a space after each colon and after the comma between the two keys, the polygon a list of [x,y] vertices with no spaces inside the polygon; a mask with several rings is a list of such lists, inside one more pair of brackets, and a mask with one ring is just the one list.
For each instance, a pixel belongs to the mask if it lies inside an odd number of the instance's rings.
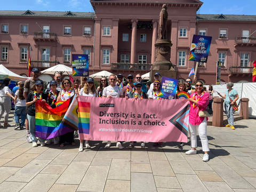
{"label": "pink banner reading Diversity is a fact. Inclusion is a choice", "polygon": [[78,121],[75,122],[78,122],[79,139],[187,142],[187,99],[136,100],[78,96],[77,100]]}

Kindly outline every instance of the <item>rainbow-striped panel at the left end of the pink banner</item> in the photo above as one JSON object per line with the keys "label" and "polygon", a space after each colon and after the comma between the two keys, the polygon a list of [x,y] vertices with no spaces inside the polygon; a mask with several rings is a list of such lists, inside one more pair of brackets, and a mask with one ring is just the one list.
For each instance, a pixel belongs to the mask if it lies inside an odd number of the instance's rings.
{"label": "rainbow-striped panel at the left end of the pink banner", "polygon": [[78,101],[78,131],[79,134],[90,133],[90,102]]}

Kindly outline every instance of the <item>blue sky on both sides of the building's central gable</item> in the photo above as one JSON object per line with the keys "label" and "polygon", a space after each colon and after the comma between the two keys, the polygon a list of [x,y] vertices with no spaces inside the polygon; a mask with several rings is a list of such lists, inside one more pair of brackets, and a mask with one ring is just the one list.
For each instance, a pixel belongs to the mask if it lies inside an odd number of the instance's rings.
{"label": "blue sky on both sides of the building's central gable", "polygon": [[[204,4],[197,12],[200,14],[256,14],[255,0],[201,1]],[[1,0],[0,10],[93,12],[89,0],[11,0],[10,2]]]}

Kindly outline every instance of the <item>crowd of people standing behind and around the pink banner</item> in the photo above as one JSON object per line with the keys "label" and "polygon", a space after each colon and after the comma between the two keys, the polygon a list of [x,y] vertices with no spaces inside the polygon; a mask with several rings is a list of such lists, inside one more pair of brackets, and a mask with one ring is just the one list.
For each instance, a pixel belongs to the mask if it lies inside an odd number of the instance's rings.
{"label": "crowd of people standing behind and around the pink banner", "polygon": [[[53,141],[55,145],[59,143],[60,147],[65,145],[65,142],[70,143],[71,145],[76,145],[74,141],[74,131],[61,135],[58,138],[53,138],[45,140],[43,138],[36,138],[36,102],[41,100],[46,102],[52,108],[55,108],[55,103],[57,101],[66,101],[71,98],[74,94],[77,94],[76,99],[81,95],[84,97],[108,97],[108,98],[125,98],[125,99],[164,99],[161,92],[161,74],[156,73],[154,75],[154,82],[148,82],[147,85],[143,84],[140,74],[132,74],[127,76],[127,82],[123,82],[123,75],[118,74],[109,76],[109,85],[106,77],[100,79],[100,85],[96,88],[94,84],[94,79],[91,77],[83,77],[82,84],[79,84],[79,79],[75,78],[73,82],[70,79],[65,78],[61,81],[61,75],[56,74],[54,79],[50,81],[47,85],[47,89],[44,90],[44,82],[38,78],[39,70],[33,68],[32,78],[29,78],[25,83],[18,82],[17,86],[13,88],[11,92],[9,84],[11,79],[5,78],[2,85],[0,86],[0,115],[4,115],[4,124],[1,126],[10,126],[8,123],[8,117],[11,109],[11,99],[15,103],[14,111],[14,121],[15,121],[15,130],[22,130],[26,125],[27,132],[27,142],[31,142],[33,147],[37,147],[38,140],[41,146],[50,145]],[[209,161],[209,143],[207,140],[206,128],[207,128],[207,116],[200,116],[199,114],[206,110],[209,111],[209,114],[212,114],[212,97],[214,90],[212,86],[209,86],[209,90],[206,90],[206,87],[203,87],[203,82],[196,81],[194,78],[195,88],[191,86],[192,79],[187,78],[186,82],[179,82],[177,88],[177,94],[175,99],[182,99],[178,97],[179,92],[187,92],[190,95],[190,111],[189,111],[189,131],[191,137],[191,149],[186,151],[187,155],[196,154],[197,148],[197,130],[199,137],[202,142],[202,147],[204,151],[203,161]],[[234,117],[233,117],[233,107],[234,102],[238,100],[237,91],[232,89],[233,83],[227,84],[227,91],[225,95],[220,95],[220,97],[225,99],[225,108],[228,111],[228,125],[232,129],[234,128]],[[90,149],[89,141],[85,140],[83,145],[83,140],[80,140],[79,151],[83,151],[84,148]],[[183,146],[183,143],[180,143]],[[111,146],[111,141],[107,141],[105,148]],[[134,141],[130,141],[129,148],[133,148]],[[140,142],[142,149],[145,149],[145,141]],[[162,142],[154,143],[155,147],[163,147]],[[116,141],[116,147],[123,149],[122,141]]]}

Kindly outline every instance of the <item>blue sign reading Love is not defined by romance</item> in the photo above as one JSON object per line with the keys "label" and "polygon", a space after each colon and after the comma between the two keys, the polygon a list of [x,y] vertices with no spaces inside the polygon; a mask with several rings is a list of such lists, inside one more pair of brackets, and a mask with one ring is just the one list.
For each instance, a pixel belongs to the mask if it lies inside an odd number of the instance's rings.
{"label": "blue sign reading Love is not defined by romance", "polygon": [[87,54],[72,54],[73,76],[89,76]]}

